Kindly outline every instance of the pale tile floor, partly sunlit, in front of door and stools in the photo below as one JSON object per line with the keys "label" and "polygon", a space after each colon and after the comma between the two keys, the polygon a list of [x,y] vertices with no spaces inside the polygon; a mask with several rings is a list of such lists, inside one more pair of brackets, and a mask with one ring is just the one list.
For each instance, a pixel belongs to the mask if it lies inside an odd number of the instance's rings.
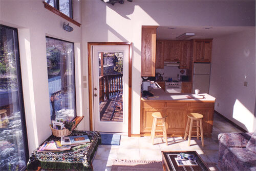
{"label": "pale tile floor, partly sunlit, in front of door and stools", "polygon": [[[206,163],[218,163],[218,134],[221,132],[242,132],[225,121],[218,114],[214,114],[214,127],[212,137],[204,138],[205,146],[201,146],[201,139],[196,137],[191,139],[190,146],[183,137],[168,138],[168,146],[162,138],[156,138],[155,144],[151,144],[150,137],[127,137],[121,136],[120,145],[99,145],[93,158],[94,170],[111,170],[113,159],[130,160],[156,160],[162,161],[161,151],[197,151],[200,157]],[[209,167],[210,170],[216,170],[216,167]],[[217,168],[218,169],[218,168]]]}

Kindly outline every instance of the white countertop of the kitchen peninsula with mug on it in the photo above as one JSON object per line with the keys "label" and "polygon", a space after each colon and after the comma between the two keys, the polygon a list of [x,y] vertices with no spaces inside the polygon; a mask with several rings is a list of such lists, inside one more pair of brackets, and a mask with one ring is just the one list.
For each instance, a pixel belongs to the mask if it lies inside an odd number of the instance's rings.
{"label": "white countertop of the kitchen peninsula with mug on it", "polygon": [[205,102],[205,103],[215,103],[215,97],[207,94],[189,94],[189,93],[166,93],[161,88],[149,87],[148,90],[154,94],[153,97],[144,98],[143,101],[189,101],[189,102]]}

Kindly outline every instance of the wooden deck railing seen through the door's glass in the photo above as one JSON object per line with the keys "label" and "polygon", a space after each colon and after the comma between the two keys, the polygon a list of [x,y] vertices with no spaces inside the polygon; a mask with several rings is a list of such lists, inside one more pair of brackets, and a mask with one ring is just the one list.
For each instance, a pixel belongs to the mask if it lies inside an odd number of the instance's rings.
{"label": "wooden deck railing seen through the door's glass", "polygon": [[105,75],[99,77],[99,100],[104,101],[104,96],[109,99],[123,88],[123,74]]}

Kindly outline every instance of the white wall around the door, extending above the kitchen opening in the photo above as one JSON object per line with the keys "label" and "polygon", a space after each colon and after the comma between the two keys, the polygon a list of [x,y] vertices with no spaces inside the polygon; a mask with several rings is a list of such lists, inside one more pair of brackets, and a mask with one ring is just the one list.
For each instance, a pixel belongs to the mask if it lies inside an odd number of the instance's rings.
{"label": "white wall around the door, extending above the kitchen opening", "polygon": [[[132,134],[140,132],[141,26],[255,26],[254,1],[133,1],[115,6],[82,1],[83,75],[88,76],[87,43],[133,42]],[[88,77],[87,77],[88,78]],[[86,98],[88,89],[84,90]],[[89,129],[89,102],[86,129]]]}

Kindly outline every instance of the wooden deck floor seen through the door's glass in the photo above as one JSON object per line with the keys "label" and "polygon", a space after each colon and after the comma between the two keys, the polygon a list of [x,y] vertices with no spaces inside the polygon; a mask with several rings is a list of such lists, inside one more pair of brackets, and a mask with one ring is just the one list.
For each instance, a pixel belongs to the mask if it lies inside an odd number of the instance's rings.
{"label": "wooden deck floor seen through the door's glass", "polygon": [[114,109],[114,101],[115,99],[106,100],[105,102],[101,102],[99,105],[100,111],[100,121],[115,121],[122,122],[123,121],[123,110],[116,107],[113,118],[111,120],[111,115]]}

